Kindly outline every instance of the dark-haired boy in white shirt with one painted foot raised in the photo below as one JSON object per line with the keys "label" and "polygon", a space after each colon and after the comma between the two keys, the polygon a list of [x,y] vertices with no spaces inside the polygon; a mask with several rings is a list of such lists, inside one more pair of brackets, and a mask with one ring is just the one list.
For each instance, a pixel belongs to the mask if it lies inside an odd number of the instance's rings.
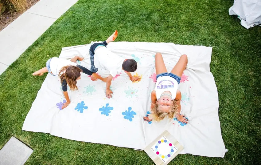
{"label": "dark-haired boy in white shirt with one painted foot raised", "polygon": [[[119,74],[123,69],[128,74],[130,80],[140,81],[140,77],[134,77],[130,72],[137,69],[137,62],[134,59],[123,59],[120,56],[112,53],[106,46],[108,43],[113,42],[118,36],[118,31],[115,32],[102,43],[94,43],[90,47],[91,71],[96,73],[98,68],[101,67],[110,72],[106,81],[106,97],[111,98],[112,91],[110,90],[111,80],[116,74]],[[95,56],[94,56],[95,54]],[[97,68],[96,68],[97,67]],[[95,79],[95,77],[92,77]]]}

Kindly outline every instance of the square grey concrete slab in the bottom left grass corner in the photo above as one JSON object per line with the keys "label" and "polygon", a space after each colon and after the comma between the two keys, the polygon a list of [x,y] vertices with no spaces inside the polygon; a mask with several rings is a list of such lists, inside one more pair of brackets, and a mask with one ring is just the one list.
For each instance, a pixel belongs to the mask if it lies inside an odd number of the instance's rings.
{"label": "square grey concrete slab in the bottom left grass corner", "polygon": [[23,165],[32,153],[31,148],[12,136],[0,150],[0,165]]}

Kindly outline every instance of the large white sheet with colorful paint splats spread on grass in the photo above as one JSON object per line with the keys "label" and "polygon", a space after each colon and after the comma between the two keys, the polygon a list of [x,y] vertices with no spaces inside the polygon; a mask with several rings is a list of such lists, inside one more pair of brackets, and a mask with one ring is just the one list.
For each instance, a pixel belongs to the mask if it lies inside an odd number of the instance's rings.
{"label": "large white sheet with colorful paint splats spread on grass", "polygon": [[[81,55],[84,60],[78,63],[90,68],[90,45],[62,48],[60,58]],[[107,99],[106,84],[100,80],[91,81],[88,75],[82,73],[77,82],[79,91],[68,91],[71,103],[60,110],[65,100],[60,81],[48,74],[22,129],[136,149],[144,149],[164,130],[168,130],[185,147],[181,151],[183,154],[224,157],[217,88],[209,69],[211,47],[148,42],[113,42],[107,47],[123,58],[133,58],[138,62],[138,69],[132,74],[142,76],[140,82],[131,82],[122,71],[113,78],[113,97]],[[155,87],[156,52],[162,53],[168,71],[181,54],[188,55],[189,63],[179,85],[182,93],[181,114],[189,119],[186,125],[174,119],[159,123],[147,123],[142,119],[150,110],[150,93]],[[97,73],[102,77],[108,76],[106,70],[99,69]]]}

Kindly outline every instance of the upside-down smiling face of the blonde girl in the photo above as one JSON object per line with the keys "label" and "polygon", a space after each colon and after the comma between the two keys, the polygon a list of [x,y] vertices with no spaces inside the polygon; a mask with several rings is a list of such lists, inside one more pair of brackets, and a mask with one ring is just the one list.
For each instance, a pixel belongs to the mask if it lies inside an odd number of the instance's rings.
{"label": "upside-down smiling face of the blonde girl", "polygon": [[161,111],[169,112],[173,104],[171,101],[171,93],[169,91],[163,92],[160,96],[160,99],[157,101],[157,104]]}

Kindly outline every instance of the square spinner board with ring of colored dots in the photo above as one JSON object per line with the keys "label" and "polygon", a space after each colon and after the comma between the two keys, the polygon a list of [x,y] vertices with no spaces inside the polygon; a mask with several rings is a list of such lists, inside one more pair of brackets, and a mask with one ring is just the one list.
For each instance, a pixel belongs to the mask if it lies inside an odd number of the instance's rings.
{"label": "square spinner board with ring of colored dots", "polygon": [[184,147],[168,131],[158,136],[144,151],[157,165],[168,164]]}

